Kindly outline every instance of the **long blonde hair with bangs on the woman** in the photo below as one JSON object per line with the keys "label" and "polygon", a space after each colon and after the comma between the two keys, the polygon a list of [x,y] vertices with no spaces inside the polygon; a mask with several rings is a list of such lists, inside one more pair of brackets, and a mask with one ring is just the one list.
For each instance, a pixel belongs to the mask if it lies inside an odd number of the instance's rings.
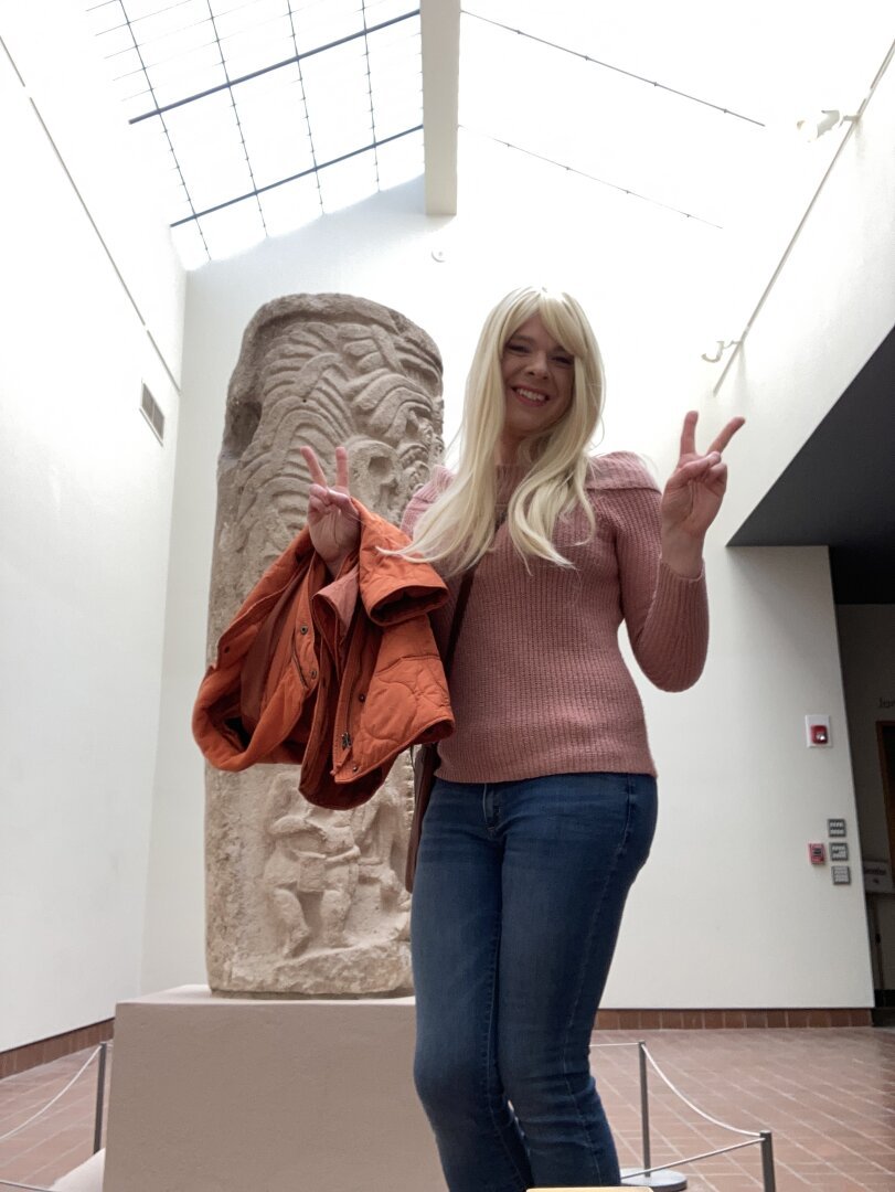
{"label": "long blonde hair with bangs on the woman", "polygon": [[[593,532],[585,495],[588,446],[603,409],[603,360],[580,305],[566,293],[527,286],[506,294],[481,328],[466,383],[456,476],[423,513],[408,554],[441,561],[447,575],[466,571],[487,551],[495,535],[496,452],[505,416],[502,355],[526,319],[539,315],[547,331],[574,356],[568,410],[540,435],[523,440],[518,462],[528,465],[506,510],[510,539],[528,560],[572,564],[553,545],[560,514],[580,505]],[[404,552],[402,552],[404,553]]]}

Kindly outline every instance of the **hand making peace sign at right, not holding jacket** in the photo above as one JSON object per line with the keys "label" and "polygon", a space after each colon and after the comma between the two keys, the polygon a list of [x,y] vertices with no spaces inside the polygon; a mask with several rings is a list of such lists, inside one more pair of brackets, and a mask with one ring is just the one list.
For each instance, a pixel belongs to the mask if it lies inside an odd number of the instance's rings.
{"label": "hand making peace sign at right, not holding jacket", "polygon": [[727,489],[727,465],[721,452],[746,421],[731,418],[704,455],[696,451],[695,410],[684,418],[680,454],[661,496],[663,558],[682,575],[698,575],[702,542],[717,516]]}

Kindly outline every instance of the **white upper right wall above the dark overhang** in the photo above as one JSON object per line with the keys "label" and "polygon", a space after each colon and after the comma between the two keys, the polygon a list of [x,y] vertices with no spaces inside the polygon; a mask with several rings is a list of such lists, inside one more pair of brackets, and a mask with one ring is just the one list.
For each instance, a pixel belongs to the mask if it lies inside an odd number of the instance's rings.
{"label": "white upper right wall above the dark overhang", "polygon": [[843,147],[719,393],[762,449],[731,495],[738,528],[895,324],[895,67]]}

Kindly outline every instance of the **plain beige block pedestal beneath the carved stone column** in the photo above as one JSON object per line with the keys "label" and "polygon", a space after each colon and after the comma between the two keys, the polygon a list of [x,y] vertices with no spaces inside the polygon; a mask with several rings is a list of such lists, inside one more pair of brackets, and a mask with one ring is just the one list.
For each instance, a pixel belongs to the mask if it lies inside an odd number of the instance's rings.
{"label": "plain beige block pedestal beneath the carved stone column", "polygon": [[118,1006],[104,1192],[441,1192],[411,998]]}

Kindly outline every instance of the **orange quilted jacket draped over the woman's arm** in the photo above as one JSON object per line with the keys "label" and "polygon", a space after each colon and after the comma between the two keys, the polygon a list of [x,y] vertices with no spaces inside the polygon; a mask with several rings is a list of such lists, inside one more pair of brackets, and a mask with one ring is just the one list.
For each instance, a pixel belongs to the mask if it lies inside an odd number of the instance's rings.
{"label": "orange quilted jacket draped over the woman's arm", "polygon": [[331,808],[365,802],[402,750],[454,728],[428,617],[447,588],[428,564],[380,554],[406,535],[355,505],[360,546],[338,578],[305,527],[222,634],[193,709],[212,765],[302,763],[299,790]]}

